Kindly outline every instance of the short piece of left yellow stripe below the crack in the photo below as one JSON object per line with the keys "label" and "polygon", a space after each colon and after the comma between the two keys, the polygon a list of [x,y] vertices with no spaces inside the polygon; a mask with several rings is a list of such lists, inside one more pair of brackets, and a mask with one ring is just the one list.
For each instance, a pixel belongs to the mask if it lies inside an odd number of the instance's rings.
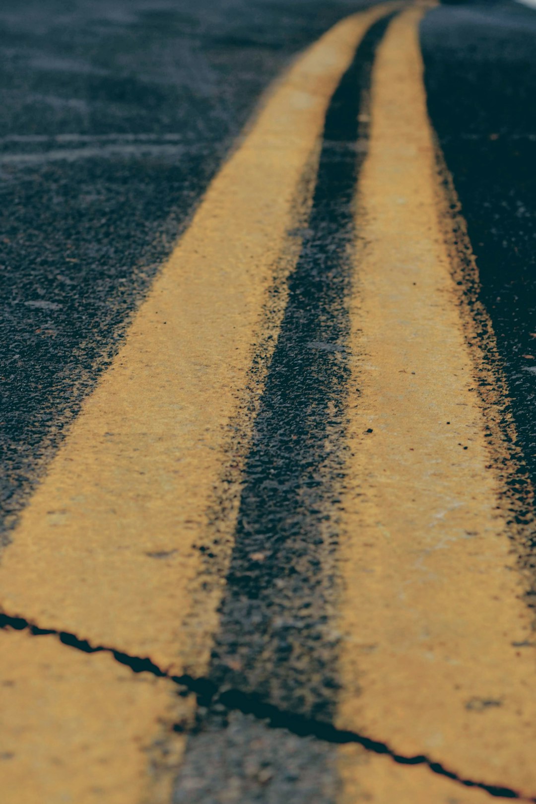
{"label": "short piece of left yellow stripe below the crack", "polygon": [[0,650],[2,802],[169,804],[193,701],[55,637],[4,630]]}

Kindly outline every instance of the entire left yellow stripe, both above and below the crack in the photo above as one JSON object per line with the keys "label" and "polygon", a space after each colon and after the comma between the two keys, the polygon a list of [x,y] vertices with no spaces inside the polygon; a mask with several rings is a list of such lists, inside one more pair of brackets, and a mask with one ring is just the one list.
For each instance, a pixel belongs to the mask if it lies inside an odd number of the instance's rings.
{"label": "entire left yellow stripe, both above and below the crack", "polygon": [[[276,332],[301,245],[288,230],[310,206],[309,183],[295,209],[305,167],[315,170],[330,96],[367,27],[391,7],[347,18],[305,51],[211,183],[3,553],[6,613],[203,675],[221,586],[208,579],[205,589],[198,547],[215,535],[210,509],[225,477],[230,490],[215,526],[223,563],[231,549],[251,425],[243,389],[267,334],[268,289],[277,271]],[[182,749],[168,722],[173,685],[144,687],[109,655],[84,656],[55,637],[2,638],[10,659],[0,690],[23,668],[2,727],[15,750],[0,781],[19,791],[10,801],[169,800],[166,767],[149,785],[160,760],[147,746],[165,739],[171,757]]]}

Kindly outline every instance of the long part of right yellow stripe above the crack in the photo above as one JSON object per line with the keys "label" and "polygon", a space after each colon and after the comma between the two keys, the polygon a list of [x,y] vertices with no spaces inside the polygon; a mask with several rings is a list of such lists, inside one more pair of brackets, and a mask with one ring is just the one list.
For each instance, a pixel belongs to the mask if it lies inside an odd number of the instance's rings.
{"label": "long part of right yellow stripe above the crack", "polygon": [[534,796],[534,632],[440,221],[422,13],[378,49],[358,188],[338,725]]}

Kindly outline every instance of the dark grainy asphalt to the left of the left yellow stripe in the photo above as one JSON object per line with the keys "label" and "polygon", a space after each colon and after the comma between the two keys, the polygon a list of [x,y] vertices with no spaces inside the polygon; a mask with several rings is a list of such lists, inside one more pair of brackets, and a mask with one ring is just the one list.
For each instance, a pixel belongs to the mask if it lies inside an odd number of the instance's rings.
{"label": "dark grainy asphalt to the left of the left yellow stripe", "polygon": [[0,538],[261,92],[366,3],[0,5]]}

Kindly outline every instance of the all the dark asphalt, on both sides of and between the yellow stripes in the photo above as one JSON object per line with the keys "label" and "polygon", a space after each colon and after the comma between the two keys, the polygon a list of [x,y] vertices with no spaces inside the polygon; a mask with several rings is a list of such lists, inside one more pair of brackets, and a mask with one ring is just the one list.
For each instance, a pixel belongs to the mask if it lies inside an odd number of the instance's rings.
{"label": "all the dark asphalt, on both sides of and between the yellow stripes", "polygon": [[[4,0],[3,539],[261,92],[293,55],[369,4]],[[346,248],[370,60],[385,24],[362,43],[326,117],[210,670],[219,691],[328,724],[338,699],[329,613],[344,482]],[[449,2],[428,13],[420,36],[430,117],[511,390],[523,494],[527,477],[536,485],[536,11]],[[525,502],[529,521],[534,501]],[[334,804],[333,745],[202,703],[176,804]]]}

